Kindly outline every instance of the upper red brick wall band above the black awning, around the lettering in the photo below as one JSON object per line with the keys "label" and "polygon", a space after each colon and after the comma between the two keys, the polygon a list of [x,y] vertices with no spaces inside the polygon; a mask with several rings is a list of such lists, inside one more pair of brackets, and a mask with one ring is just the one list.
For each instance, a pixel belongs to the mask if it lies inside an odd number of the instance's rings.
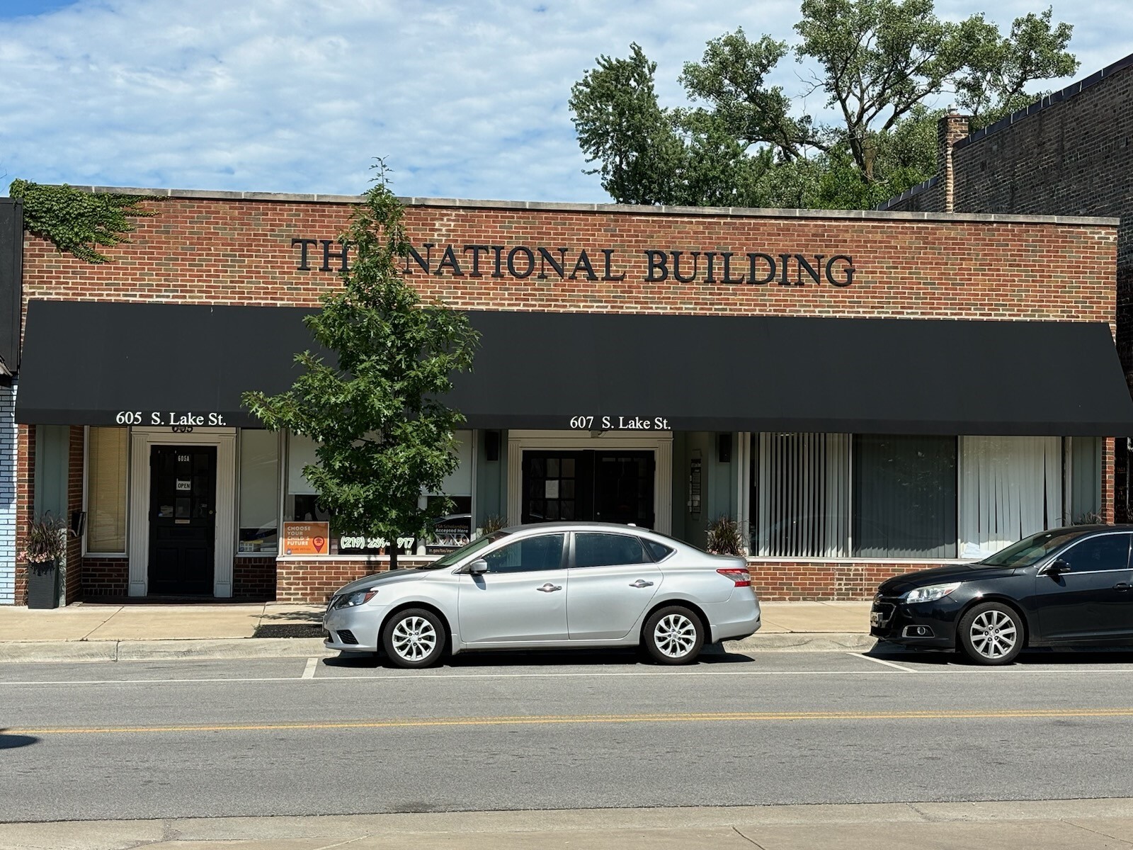
{"label": "upper red brick wall band above the black awning, around the lettering", "polygon": [[[28,238],[25,298],[204,304],[315,305],[334,274],[297,271],[292,238],[332,239],[347,221],[343,204],[171,198],[152,203],[128,244],[108,248],[114,262],[83,263]],[[591,312],[682,312],[838,316],[1066,318],[1113,322],[1113,227],[976,221],[673,215],[640,212],[415,206],[411,241],[451,244],[465,272],[410,280],[426,298],[455,307]],[[623,281],[560,280],[536,272],[519,280],[471,275],[465,245],[568,247],[568,263],[586,249],[600,277],[602,248],[615,249]],[[852,286],[803,287],[647,283],[645,248],[799,252],[853,257]],[[505,250],[506,254],[506,250]],[[433,250],[434,267],[440,249]],[[689,261],[685,254],[684,262]],[[670,258],[671,262],[671,258]],[[719,260],[717,258],[717,275]],[[704,260],[701,258],[701,269]],[[414,265],[416,269],[416,265]],[[733,272],[734,274],[735,272]]]}

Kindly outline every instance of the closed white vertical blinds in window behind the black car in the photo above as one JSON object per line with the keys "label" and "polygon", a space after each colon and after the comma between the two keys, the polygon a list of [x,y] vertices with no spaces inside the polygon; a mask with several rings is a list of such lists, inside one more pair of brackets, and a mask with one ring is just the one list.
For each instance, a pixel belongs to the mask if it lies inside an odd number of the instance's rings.
{"label": "closed white vertical blinds in window behind the black car", "polygon": [[960,452],[961,558],[1063,524],[1059,437],[962,436]]}

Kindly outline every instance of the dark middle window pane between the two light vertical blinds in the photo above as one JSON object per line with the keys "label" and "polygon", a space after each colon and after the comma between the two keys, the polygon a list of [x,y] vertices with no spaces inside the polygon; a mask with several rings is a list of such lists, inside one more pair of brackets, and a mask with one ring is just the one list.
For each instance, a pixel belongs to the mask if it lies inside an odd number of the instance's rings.
{"label": "dark middle window pane between the two light vertical blinds", "polygon": [[956,437],[853,439],[854,558],[956,556]]}

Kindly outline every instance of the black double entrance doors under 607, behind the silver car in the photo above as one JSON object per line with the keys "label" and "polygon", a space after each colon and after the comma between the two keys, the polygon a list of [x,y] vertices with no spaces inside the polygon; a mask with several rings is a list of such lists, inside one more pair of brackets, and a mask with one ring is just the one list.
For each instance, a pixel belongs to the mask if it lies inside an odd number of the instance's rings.
{"label": "black double entrance doors under 607, behind the silver car", "polygon": [[653,481],[651,451],[525,451],[521,518],[653,528]]}

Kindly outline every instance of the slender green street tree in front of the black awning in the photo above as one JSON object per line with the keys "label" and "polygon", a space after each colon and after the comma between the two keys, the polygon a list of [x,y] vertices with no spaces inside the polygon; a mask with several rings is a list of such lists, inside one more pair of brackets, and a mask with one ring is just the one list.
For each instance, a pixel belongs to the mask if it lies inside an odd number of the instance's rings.
{"label": "slender green street tree in front of the black awning", "polygon": [[468,317],[443,304],[421,304],[406,283],[409,256],[400,202],[378,177],[340,240],[350,269],[342,288],[322,297],[305,318],[314,340],[337,355],[296,355],[303,374],[287,392],[246,392],[242,401],[264,426],[288,428],[318,443],[318,465],[304,467],[335,534],[390,541],[420,536],[451,510],[448,500],[420,507],[423,492],[440,492],[458,458],[453,432],[465,422],[441,397],[451,375],[471,368],[478,334]]}

